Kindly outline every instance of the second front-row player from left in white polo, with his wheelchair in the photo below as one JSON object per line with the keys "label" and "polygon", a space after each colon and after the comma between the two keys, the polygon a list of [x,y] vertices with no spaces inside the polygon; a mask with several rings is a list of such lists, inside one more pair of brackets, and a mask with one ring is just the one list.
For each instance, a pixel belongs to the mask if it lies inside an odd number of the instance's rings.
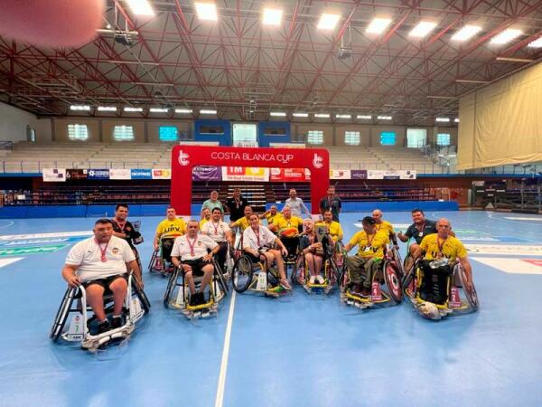
{"label": "second front-row player from left in white polo, with his wheelchair", "polygon": [[[172,250],[175,268],[164,293],[164,306],[180,308],[187,317],[205,317],[215,313],[218,302],[228,290],[213,259],[220,245],[198,231],[199,222],[189,221],[186,234],[175,239]],[[205,298],[207,287],[209,295]],[[175,296],[177,288],[179,291]]]}

